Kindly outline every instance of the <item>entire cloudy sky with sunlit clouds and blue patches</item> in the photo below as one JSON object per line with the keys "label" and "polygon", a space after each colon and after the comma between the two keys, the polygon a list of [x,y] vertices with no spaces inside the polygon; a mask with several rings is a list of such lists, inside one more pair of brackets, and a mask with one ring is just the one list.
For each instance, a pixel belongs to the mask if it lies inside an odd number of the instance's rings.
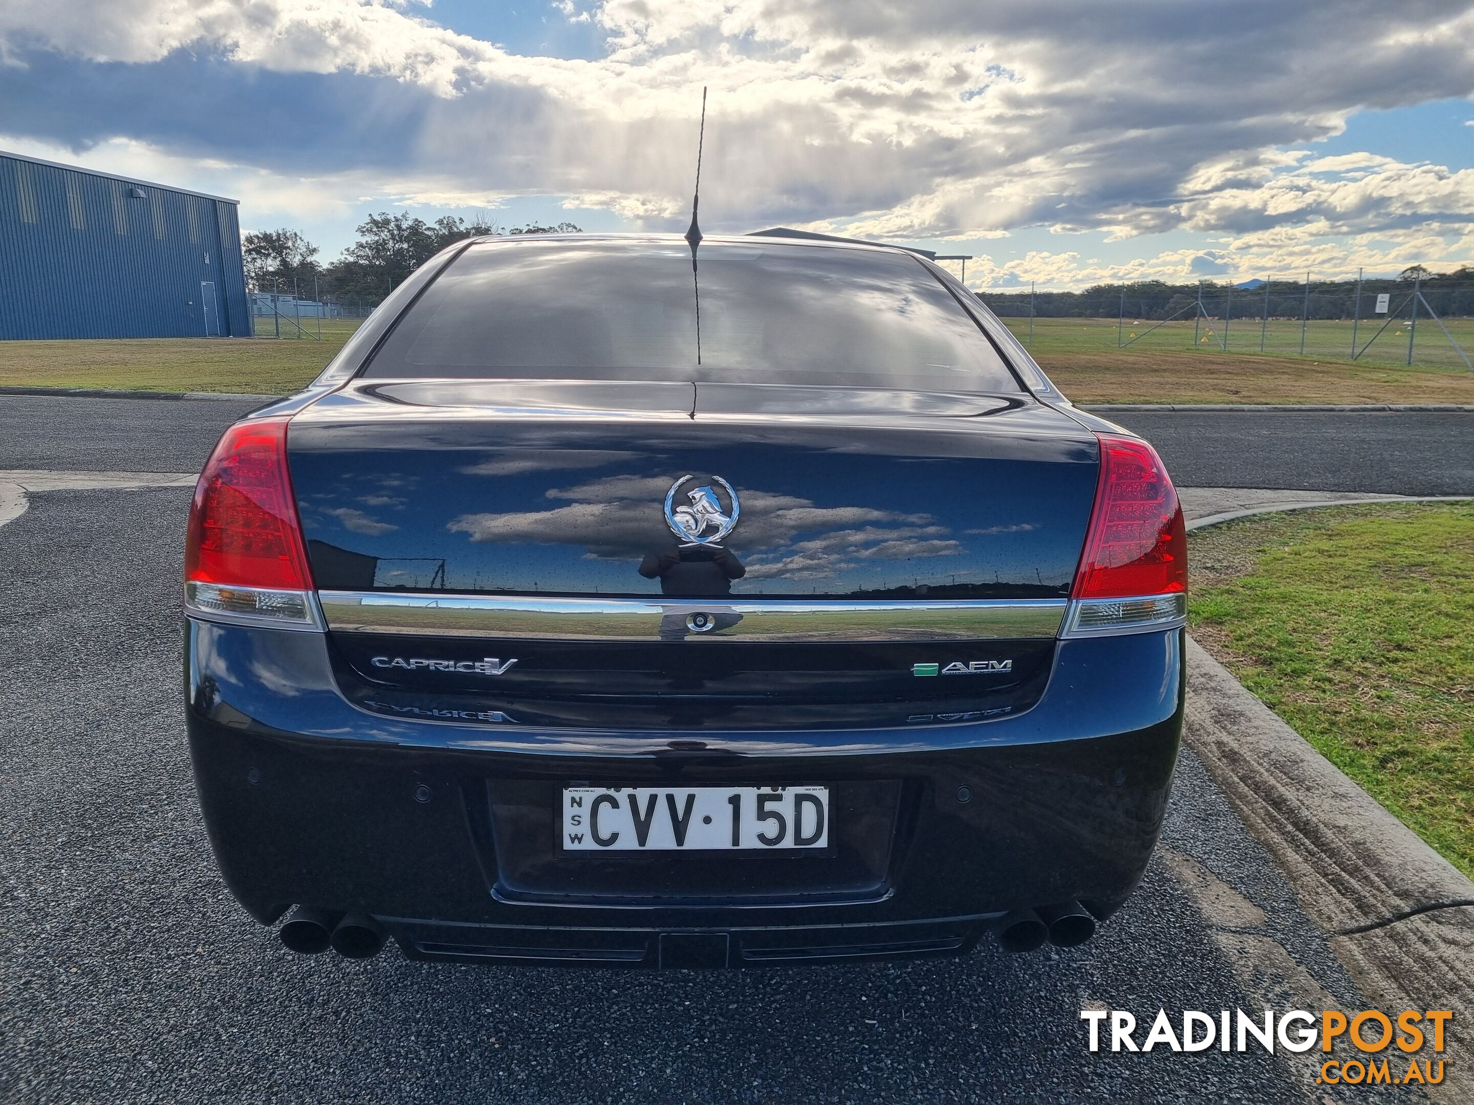
{"label": "entire cloudy sky with sunlit clouds and blue patches", "polygon": [[4,0],[0,149],[242,200],[973,253],[974,287],[1474,264],[1474,0]]}

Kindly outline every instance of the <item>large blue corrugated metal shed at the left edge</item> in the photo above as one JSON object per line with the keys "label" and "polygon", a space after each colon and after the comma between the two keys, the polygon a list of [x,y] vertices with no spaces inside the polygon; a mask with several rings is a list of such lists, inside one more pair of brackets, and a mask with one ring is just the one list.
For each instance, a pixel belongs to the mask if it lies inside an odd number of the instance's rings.
{"label": "large blue corrugated metal shed at the left edge", "polygon": [[236,206],[0,152],[0,339],[249,337]]}

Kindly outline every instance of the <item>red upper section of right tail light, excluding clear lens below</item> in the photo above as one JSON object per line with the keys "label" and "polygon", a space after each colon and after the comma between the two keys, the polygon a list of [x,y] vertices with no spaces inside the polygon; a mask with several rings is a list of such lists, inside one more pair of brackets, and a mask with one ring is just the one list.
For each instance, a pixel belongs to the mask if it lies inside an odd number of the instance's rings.
{"label": "red upper section of right tail light, excluding clear lens below", "polygon": [[1100,483],[1075,598],[1135,598],[1188,589],[1188,538],[1178,492],[1157,451],[1097,435]]}

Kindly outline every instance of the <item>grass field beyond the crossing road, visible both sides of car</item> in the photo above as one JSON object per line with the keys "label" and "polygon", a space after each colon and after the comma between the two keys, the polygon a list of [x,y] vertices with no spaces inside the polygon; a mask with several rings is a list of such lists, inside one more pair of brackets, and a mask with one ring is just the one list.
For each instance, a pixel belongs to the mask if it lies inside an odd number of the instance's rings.
{"label": "grass field beyond the crossing road, visible both sides of car", "polygon": [[[1029,320],[1008,318],[1027,337]],[[1474,324],[1458,320],[1470,333]],[[256,320],[270,333],[271,320]],[[324,318],[323,340],[311,337],[136,339],[0,342],[0,385],[47,387],[137,387],[167,392],[255,392],[287,395],[308,383],[360,326]],[[1256,329],[1247,324],[1244,330]],[[1319,326],[1319,324],[1312,324]],[[1338,323],[1327,323],[1334,333]],[[1234,327],[1240,327],[1234,323]],[[1166,327],[1163,329],[1166,330]],[[1299,324],[1296,324],[1299,330]],[[1418,349],[1424,349],[1422,324]],[[1436,327],[1434,327],[1436,333]],[[1257,329],[1246,342],[1257,351]],[[1347,348],[1350,324],[1344,326]],[[1442,334],[1437,334],[1443,340]],[[1327,339],[1328,340],[1328,339]],[[1340,340],[1340,337],[1337,337]],[[1299,333],[1296,333],[1299,342]],[[1446,343],[1445,343],[1446,345]],[[1377,346],[1374,346],[1375,349]],[[1045,371],[1076,402],[1456,402],[1474,405],[1474,373],[1462,362],[1412,367],[1338,357],[1244,352],[1235,329],[1229,351],[1192,348],[1184,332],[1159,332],[1148,342],[1116,348],[1116,320],[1035,320],[1032,349]]]}

